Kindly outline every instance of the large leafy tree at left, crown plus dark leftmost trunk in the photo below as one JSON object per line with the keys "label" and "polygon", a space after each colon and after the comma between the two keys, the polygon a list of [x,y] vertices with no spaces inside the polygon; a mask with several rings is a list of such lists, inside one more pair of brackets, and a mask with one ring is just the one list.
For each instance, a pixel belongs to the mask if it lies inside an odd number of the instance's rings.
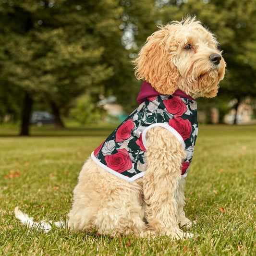
{"label": "large leafy tree at left, crown plus dark leftmost trunk", "polygon": [[1,86],[23,97],[22,135],[33,100],[48,100],[56,110],[85,90],[99,94],[101,82],[113,75],[101,62],[101,34],[119,30],[120,11],[117,0],[0,3]]}

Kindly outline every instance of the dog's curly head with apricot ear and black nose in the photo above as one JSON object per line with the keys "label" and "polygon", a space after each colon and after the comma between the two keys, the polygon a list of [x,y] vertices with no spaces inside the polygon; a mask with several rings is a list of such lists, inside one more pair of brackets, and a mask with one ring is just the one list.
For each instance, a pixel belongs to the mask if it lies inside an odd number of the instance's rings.
{"label": "dog's curly head with apricot ear and black nose", "polygon": [[193,98],[215,97],[226,63],[214,35],[195,18],[161,26],[134,61],[135,74],[159,93],[177,89]]}

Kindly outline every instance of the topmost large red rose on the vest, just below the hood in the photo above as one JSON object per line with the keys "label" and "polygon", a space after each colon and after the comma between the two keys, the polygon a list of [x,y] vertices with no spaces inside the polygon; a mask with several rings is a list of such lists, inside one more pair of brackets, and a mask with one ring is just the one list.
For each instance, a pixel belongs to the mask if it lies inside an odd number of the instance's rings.
{"label": "topmost large red rose on the vest, just below the hood", "polygon": [[180,97],[172,96],[171,99],[164,99],[163,103],[167,111],[175,117],[182,116],[187,111],[186,104]]}

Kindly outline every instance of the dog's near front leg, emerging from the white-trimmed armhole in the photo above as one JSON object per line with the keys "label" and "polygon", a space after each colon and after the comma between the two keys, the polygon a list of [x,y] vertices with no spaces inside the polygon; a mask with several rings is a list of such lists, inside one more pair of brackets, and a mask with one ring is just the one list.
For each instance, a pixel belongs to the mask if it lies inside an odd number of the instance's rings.
{"label": "dog's near front leg, emerging from the white-trimmed armhole", "polygon": [[185,150],[179,140],[162,127],[147,131],[147,170],[143,177],[145,218],[149,229],[173,238],[192,236],[178,225],[177,189]]}

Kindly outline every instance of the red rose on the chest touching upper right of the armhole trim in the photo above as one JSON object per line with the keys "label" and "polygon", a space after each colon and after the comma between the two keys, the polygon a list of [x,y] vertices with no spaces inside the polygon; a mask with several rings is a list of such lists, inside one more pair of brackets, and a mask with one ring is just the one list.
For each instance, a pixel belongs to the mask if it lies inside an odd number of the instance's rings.
{"label": "red rose on the chest touching upper right of the armhole trim", "polygon": [[182,119],[181,117],[173,118],[169,120],[169,125],[181,134],[183,140],[190,138],[192,125],[188,119]]}

